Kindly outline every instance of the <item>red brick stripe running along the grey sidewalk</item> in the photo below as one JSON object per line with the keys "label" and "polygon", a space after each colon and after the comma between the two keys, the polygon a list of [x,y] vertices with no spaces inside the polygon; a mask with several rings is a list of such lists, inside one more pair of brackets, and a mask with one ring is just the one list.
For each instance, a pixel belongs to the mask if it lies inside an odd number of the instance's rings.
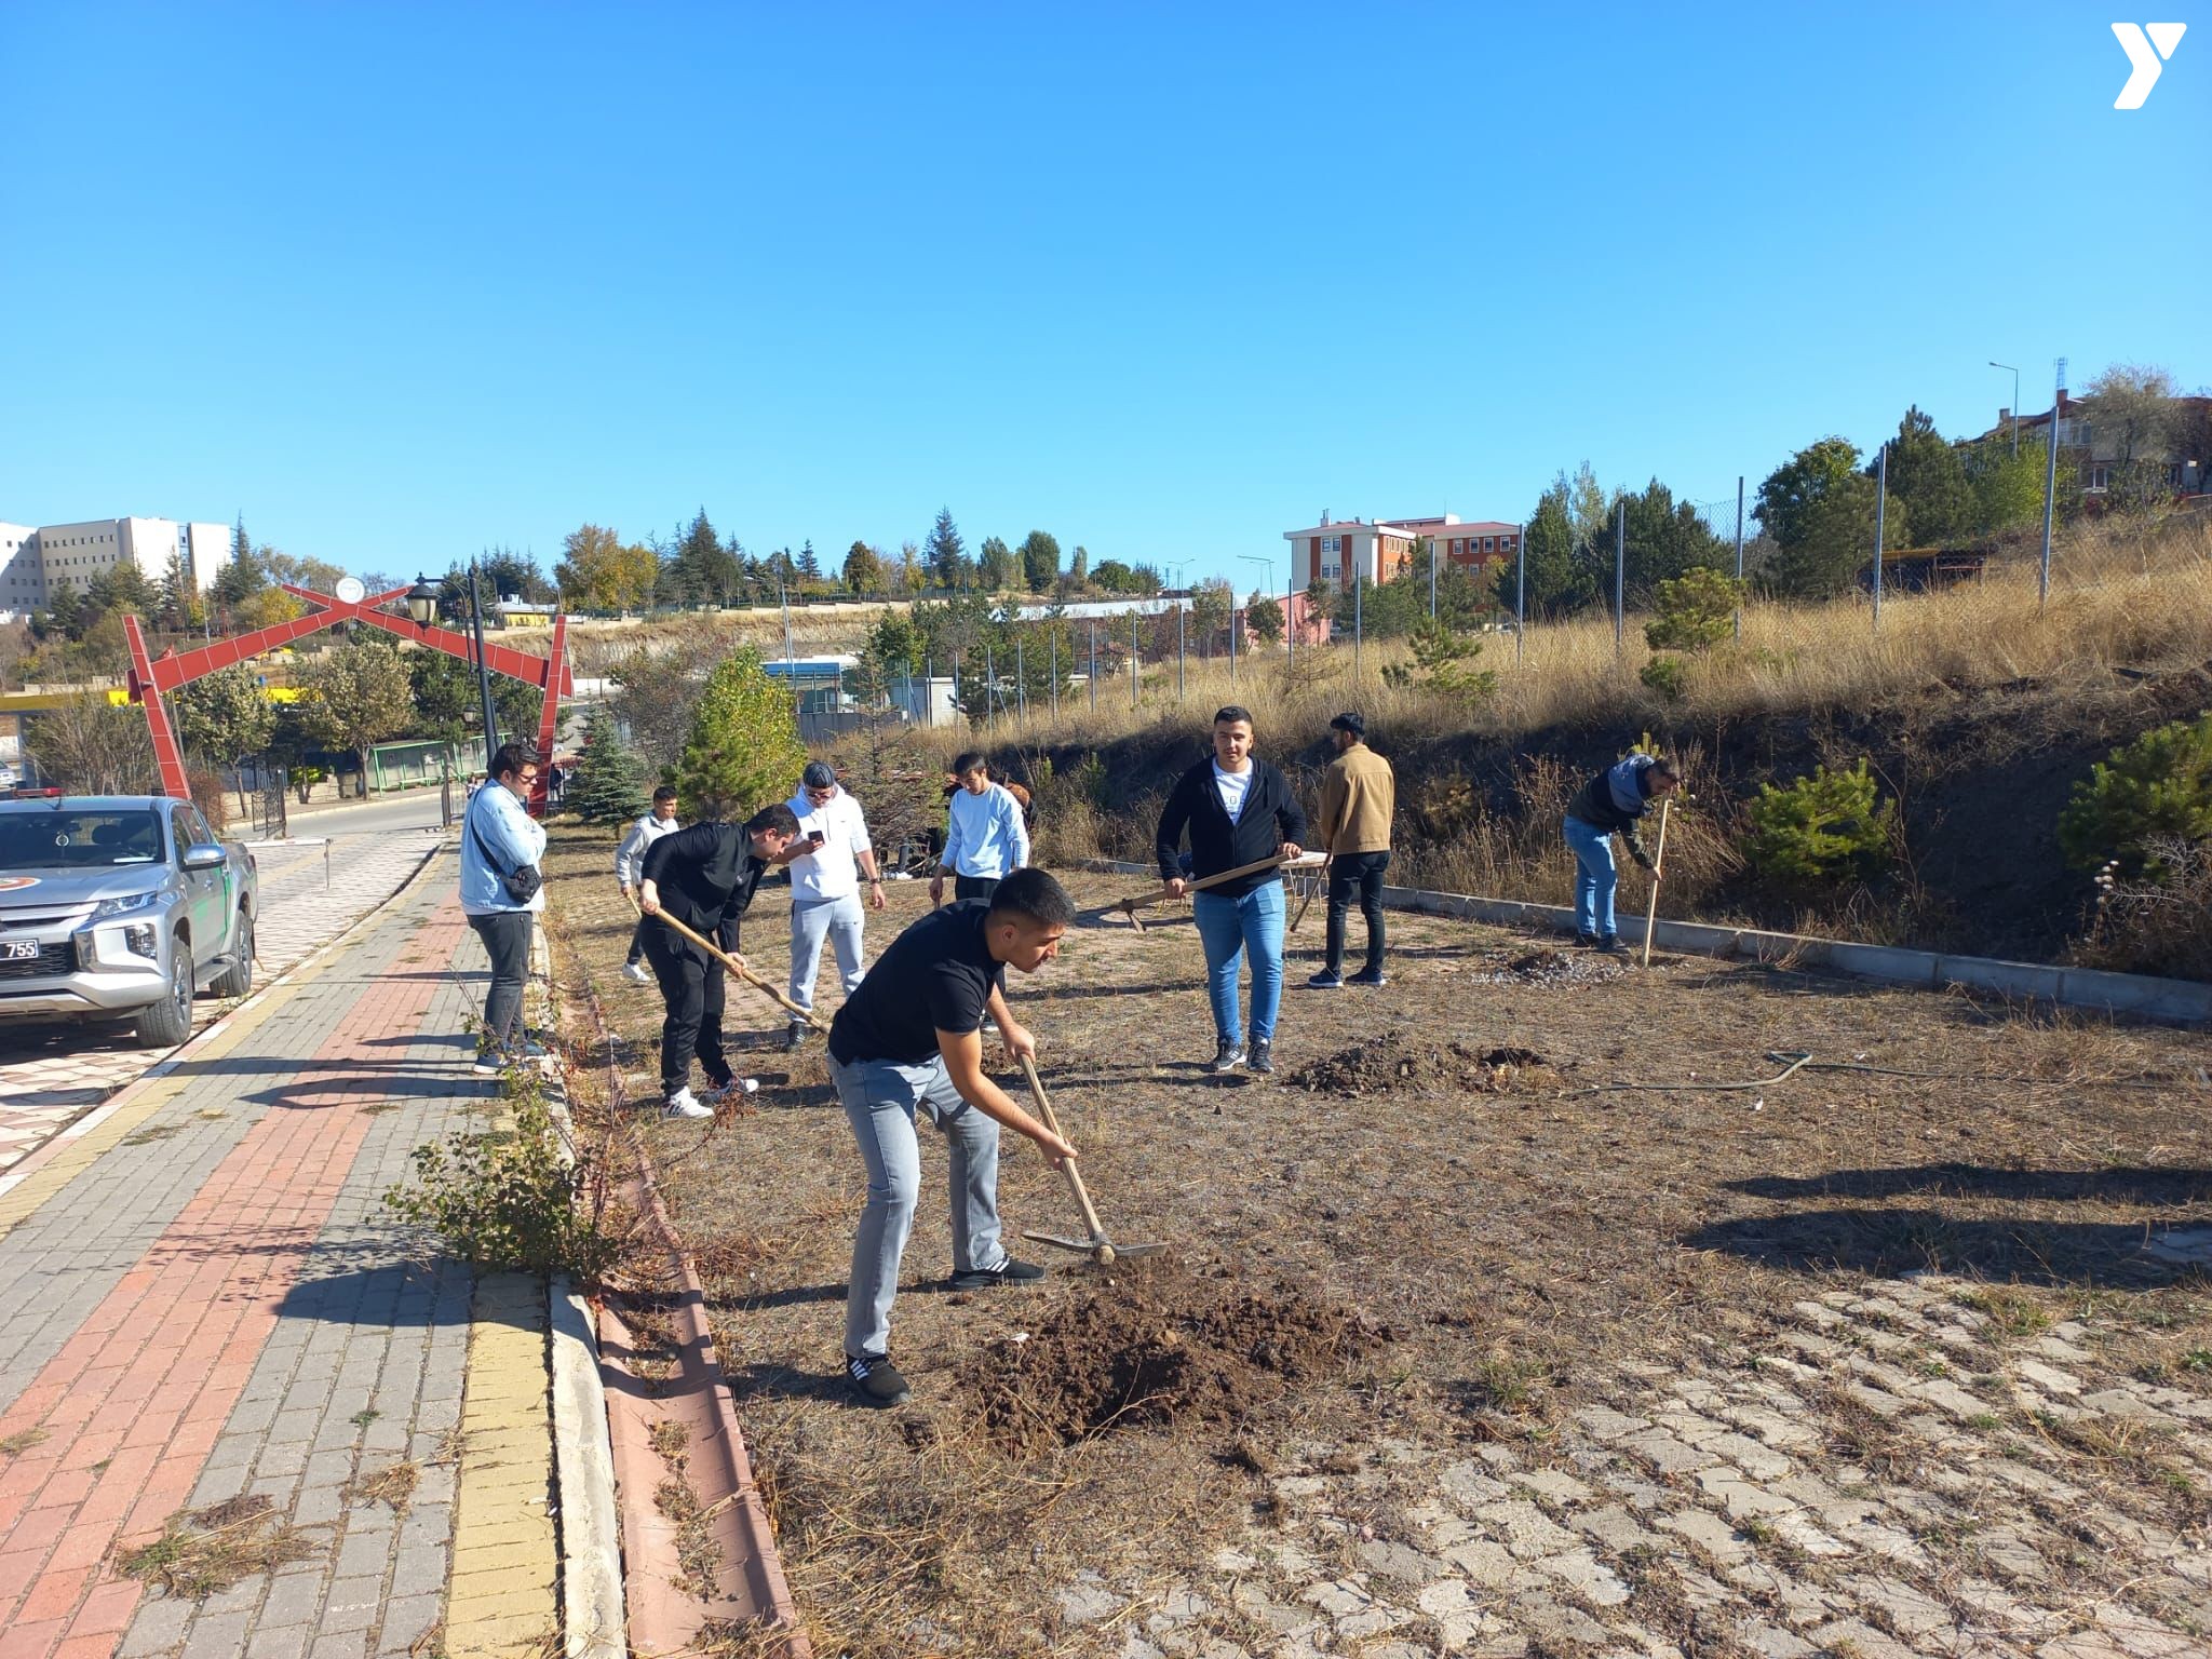
{"label": "red brick stripe running along the grey sidewalk", "polygon": [[[400,953],[442,958],[460,933],[440,911]],[[0,1659],[113,1655],[139,1586],[104,1577],[104,1562],[188,1502],[367,1133],[356,1108],[383,1077],[372,1040],[420,1029],[434,991],[429,975],[363,987],[283,1099],[0,1413],[0,1438],[46,1433],[0,1467]]]}

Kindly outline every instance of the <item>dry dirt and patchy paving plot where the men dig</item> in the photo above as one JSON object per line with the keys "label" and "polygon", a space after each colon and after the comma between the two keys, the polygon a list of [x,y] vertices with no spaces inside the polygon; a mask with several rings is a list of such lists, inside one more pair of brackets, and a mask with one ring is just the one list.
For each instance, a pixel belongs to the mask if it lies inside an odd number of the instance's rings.
{"label": "dry dirt and patchy paving plot where the men dig", "polygon": [[[549,887],[650,1099],[602,838]],[[927,905],[891,891],[869,956]],[[1398,916],[1387,989],[1314,993],[1316,905],[1281,1075],[1219,1084],[1161,916],[1011,993],[1106,1225],[1172,1252],[947,1294],[925,1135],[905,1409],[836,1380],[863,1177],[818,1044],[737,1055],[750,1115],[639,1119],[816,1652],[2212,1652],[2201,1033]],[[1814,1064],[1721,1086],[1772,1053]],[[1026,1144],[1002,1210],[1079,1230]]]}

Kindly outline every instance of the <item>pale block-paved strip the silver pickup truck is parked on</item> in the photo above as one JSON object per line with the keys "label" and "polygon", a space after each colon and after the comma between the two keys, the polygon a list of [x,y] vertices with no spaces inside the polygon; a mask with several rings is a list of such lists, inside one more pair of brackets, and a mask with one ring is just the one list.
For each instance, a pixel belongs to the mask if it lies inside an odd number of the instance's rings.
{"label": "pale block-paved strip the silver pickup truck is parked on", "polygon": [[[296,967],[392,898],[436,847],[420,832],[356,836],[330,849],[263,847],[261,920],[254,938],[254,982]],[[206,1031],[234,1004],[204,998],[195,1031]],[[0,1026],[0,1172],[13,1168],[124,1084],[161,1064],[164,1051],[139,1048],[115,1026]]]}

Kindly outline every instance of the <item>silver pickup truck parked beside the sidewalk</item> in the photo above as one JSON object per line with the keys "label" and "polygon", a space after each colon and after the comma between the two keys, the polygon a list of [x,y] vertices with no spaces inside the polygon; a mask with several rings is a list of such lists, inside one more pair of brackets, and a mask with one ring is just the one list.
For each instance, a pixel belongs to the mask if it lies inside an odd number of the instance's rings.
{"label": "silver pickup truck parked beside the sidewalk", "polygon": [[254,980],[254,856],[190,801],[0,801],[0,1020],[131,1020],[148,1048],[192,1033],[192,998]]}

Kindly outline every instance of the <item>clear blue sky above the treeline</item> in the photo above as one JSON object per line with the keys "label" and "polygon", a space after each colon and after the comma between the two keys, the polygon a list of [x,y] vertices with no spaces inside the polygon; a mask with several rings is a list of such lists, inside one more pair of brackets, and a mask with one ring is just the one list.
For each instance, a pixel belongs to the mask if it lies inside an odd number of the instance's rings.
{"label": "clear blue sky above the treeline", "polygon": [[2212,380],[2212,13],[0,0],[0,518],[1239,573]]}

